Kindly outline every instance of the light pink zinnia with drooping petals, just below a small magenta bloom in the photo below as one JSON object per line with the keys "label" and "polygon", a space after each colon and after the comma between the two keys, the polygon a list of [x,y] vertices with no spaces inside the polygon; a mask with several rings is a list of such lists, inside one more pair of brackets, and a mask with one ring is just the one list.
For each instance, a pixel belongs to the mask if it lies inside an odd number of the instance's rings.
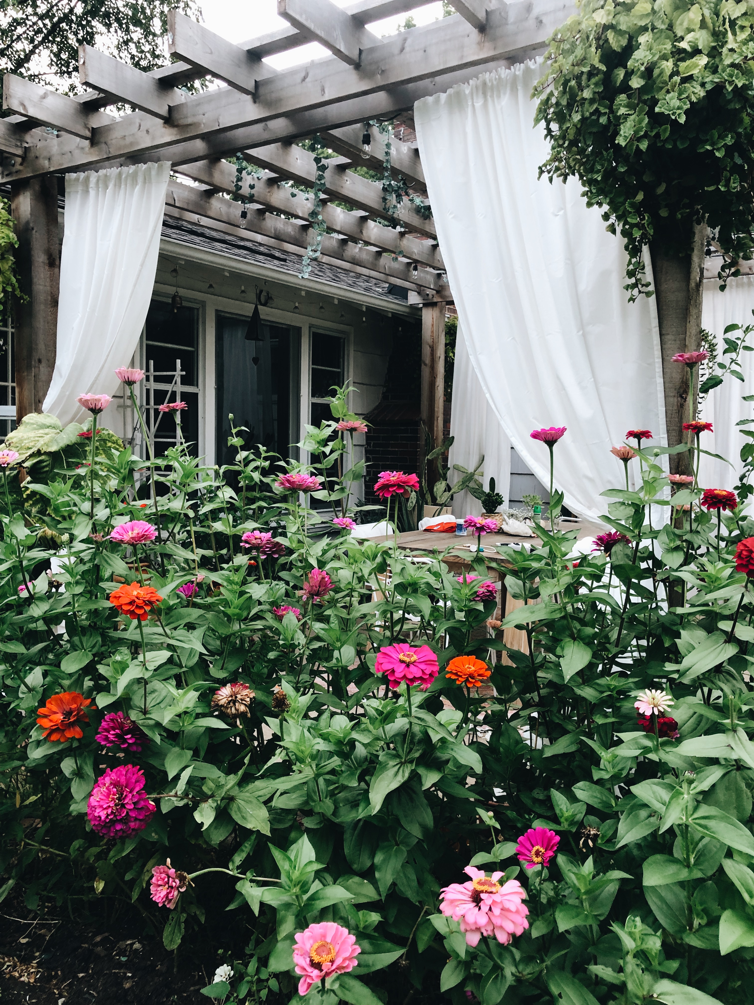
{"label": "light pink zinnia with drooping petals, just below a small magenta bloom", "polygon": [[495,936],[507,946],[514,936],[529,928],[529,910],[523,903],[526,891],[518,879],[499,882],[503,872],[485,875],[482,869],[466,865],[470,881],[452,882],[440,890],[440,911],[460,923],[466,945],[476,946],[482,936]]}

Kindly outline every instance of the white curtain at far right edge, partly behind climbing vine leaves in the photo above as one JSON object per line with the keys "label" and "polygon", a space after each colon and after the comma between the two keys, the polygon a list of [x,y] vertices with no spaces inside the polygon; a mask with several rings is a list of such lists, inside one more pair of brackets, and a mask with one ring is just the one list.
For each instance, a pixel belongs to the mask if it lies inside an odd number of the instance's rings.
{"label": "white curtain at far right edge, partly behind climbing vine leaves", "polygon": [[[754,275],[741,275],[731,279],[725,292],[721,292],[718,279],[705,280],[702,328],[717,336],[720,360],[726,359],[723,356],[725,329],[733,324],[744,326],[751,324],[754,320],[751,316],[752,310],[754,310]],[[734,332],[732,337],[739,334]],[[754,347],[754,339],[750,336],[746,344]],[[715,460],[714,457],[702,454],[699,479],[705,488],[733,488],[738,481],[742,467],[740,452],[744,437],[736,423],[739,419],[750,419],[754,415],[752,403],[742,401],[743,395],[754,394],[754,353],[741,354],[741,372],[744,375],[743,384],[734,377],[726,377],[720,387],[710,391],[700,409],[700,417],[711,422],[715,430],[714,433],[702,434],[703,449],[726,457],[734,465],[731,467],[725,461]]]}

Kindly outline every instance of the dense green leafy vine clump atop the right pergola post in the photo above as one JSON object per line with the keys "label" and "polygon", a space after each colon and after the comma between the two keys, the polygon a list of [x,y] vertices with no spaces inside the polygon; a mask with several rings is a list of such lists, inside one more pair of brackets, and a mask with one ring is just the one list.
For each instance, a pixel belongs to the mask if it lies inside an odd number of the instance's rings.
{"label": "dense green leafy vine clump atop the right pergola post", "polygon": [[754,13],[735,0],[585,0],[550,39],[535,87],[552,152],[628,252],[626,289],[648,293],[642,248],[680,254],[707,219],[720,277],[754,254]]}

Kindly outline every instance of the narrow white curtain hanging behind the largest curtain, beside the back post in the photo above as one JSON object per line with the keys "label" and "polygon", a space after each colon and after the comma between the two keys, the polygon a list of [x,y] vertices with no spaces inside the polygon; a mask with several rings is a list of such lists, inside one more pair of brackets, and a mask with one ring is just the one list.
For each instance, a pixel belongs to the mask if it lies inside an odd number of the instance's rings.
{"label": "narrow white curtain hanging behind the largest curtain, beside the back post", "polygon": [[[462,473],[453,471],[453,464],[460,464],[472,471],[484,455],[485,488],[489,486],[490,478],[495,478],[496,489],[505,495],[507,505],[511,483],[511,441],[480,386],[460,325],[455,337],[450,435],[455,437],[448,454],[450,484],[463,477]],[[467,490],[459,492],[453,495],[453,514],[456,517],[467,517],[469,514],[479,517],[482,502]]]}

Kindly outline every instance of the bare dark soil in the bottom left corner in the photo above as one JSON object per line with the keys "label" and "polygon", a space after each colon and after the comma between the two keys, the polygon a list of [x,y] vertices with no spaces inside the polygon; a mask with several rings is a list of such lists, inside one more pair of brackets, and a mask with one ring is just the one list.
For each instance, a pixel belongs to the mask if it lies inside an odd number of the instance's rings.
{"label": "bare dark soil in the bottom left corner", "polygon": [[76,923],[61,910],[41,917],[23,900],[0,904],[1,1005],[188,1005],[212,979],[217,948],[169,953],[133,915]]}

